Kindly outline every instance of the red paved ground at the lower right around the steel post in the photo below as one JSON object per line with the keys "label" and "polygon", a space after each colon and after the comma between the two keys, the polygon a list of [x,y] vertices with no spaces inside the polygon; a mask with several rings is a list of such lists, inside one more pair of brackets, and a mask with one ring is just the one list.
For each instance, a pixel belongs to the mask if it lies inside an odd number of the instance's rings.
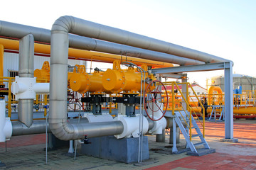
{"label": "red paved ground at the lower right around the steel post", "polygon": [[[255,120],[252,120],[252,123],[255,123]],[[224,138],[225,136],[225,128],[224,123],[209,123],[206,122],[206,137],[217,137]],[[178,159],[174,162],[169,162],[166,164],[162,164],[160,166],[154,166],[149,168],[148,170],[154,169],[176,169],[176,168],[187,168],[187,169],[256,169],[256,156],[246,156],[246,154],[250,155],[252,152],[248,152],[250,150],[256,148],[256,123],[248,124],[248,123],[234,123],[234,138],[238,138],[238,140],[249,140],[242,143],[230,144],[230,147],[239,148],[238,151],[230,151],[230,153],[220,153],[216,152],[214,154],[208,154],[202,157],[186,157],[183,159]],[[240,155],[234,154],[241,153]],[[256,155],[253,154],[253,155]]]}

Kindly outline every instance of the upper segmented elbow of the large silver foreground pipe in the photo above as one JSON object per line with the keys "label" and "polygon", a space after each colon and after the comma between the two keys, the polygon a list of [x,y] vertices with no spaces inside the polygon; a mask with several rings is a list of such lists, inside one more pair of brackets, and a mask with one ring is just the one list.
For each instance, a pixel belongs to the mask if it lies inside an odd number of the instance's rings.
{"label": "upper segmented elbow of the large silver foreground pipe", "polygon": [[52,26],[52,31],[60,30],[69,33],[74,28],[75,18],[73,16],[60,16]]}

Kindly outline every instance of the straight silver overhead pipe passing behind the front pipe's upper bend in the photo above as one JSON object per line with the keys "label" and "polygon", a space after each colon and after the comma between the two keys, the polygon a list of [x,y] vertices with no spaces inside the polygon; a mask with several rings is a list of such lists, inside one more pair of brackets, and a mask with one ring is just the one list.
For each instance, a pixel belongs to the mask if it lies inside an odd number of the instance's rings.
{"label": "straight silver overhead pipe passing behind the front pipe's upper bend", "polygon": [[[63,21],[61,21],[63,19]],[[59,23],[57,25],[65,25],[67,27],[71,26],[73,22],[72,16],[63,16],[58,19]],[[89,22],[89,21],[87,21]],[[80,27],[80,26],[78,26]],[[65,29],[67,30],[67,29]],[[12,38],[22,38],[28,33],[33,34],[36,41],[40,42],[50,42],[50,30],[43,28],[35,28],[31,26],[23,26],[16,23],[9,23],[5,21],[0,21],[0,35],[4,35]],[[198,60],[191,60],[183,57],[178,57],[174,55],[169,55],[162,52],[154,52],[151,50],[144,50],[138,47],[131,47],[127,45],[119,45],[113,42],[106,42],[102,40],[95,40],[92,38],[81,37],[77,35],[68,35],[69,46],[73,48],[78,48],[82,50],[93,50],[98,52],[107,52],[115,55],[128,55],[130,57],[141,57],[147,60],[158,60],[161,62],[169,62],[181,65],[194,65],[194,64],[204,64]]]}

